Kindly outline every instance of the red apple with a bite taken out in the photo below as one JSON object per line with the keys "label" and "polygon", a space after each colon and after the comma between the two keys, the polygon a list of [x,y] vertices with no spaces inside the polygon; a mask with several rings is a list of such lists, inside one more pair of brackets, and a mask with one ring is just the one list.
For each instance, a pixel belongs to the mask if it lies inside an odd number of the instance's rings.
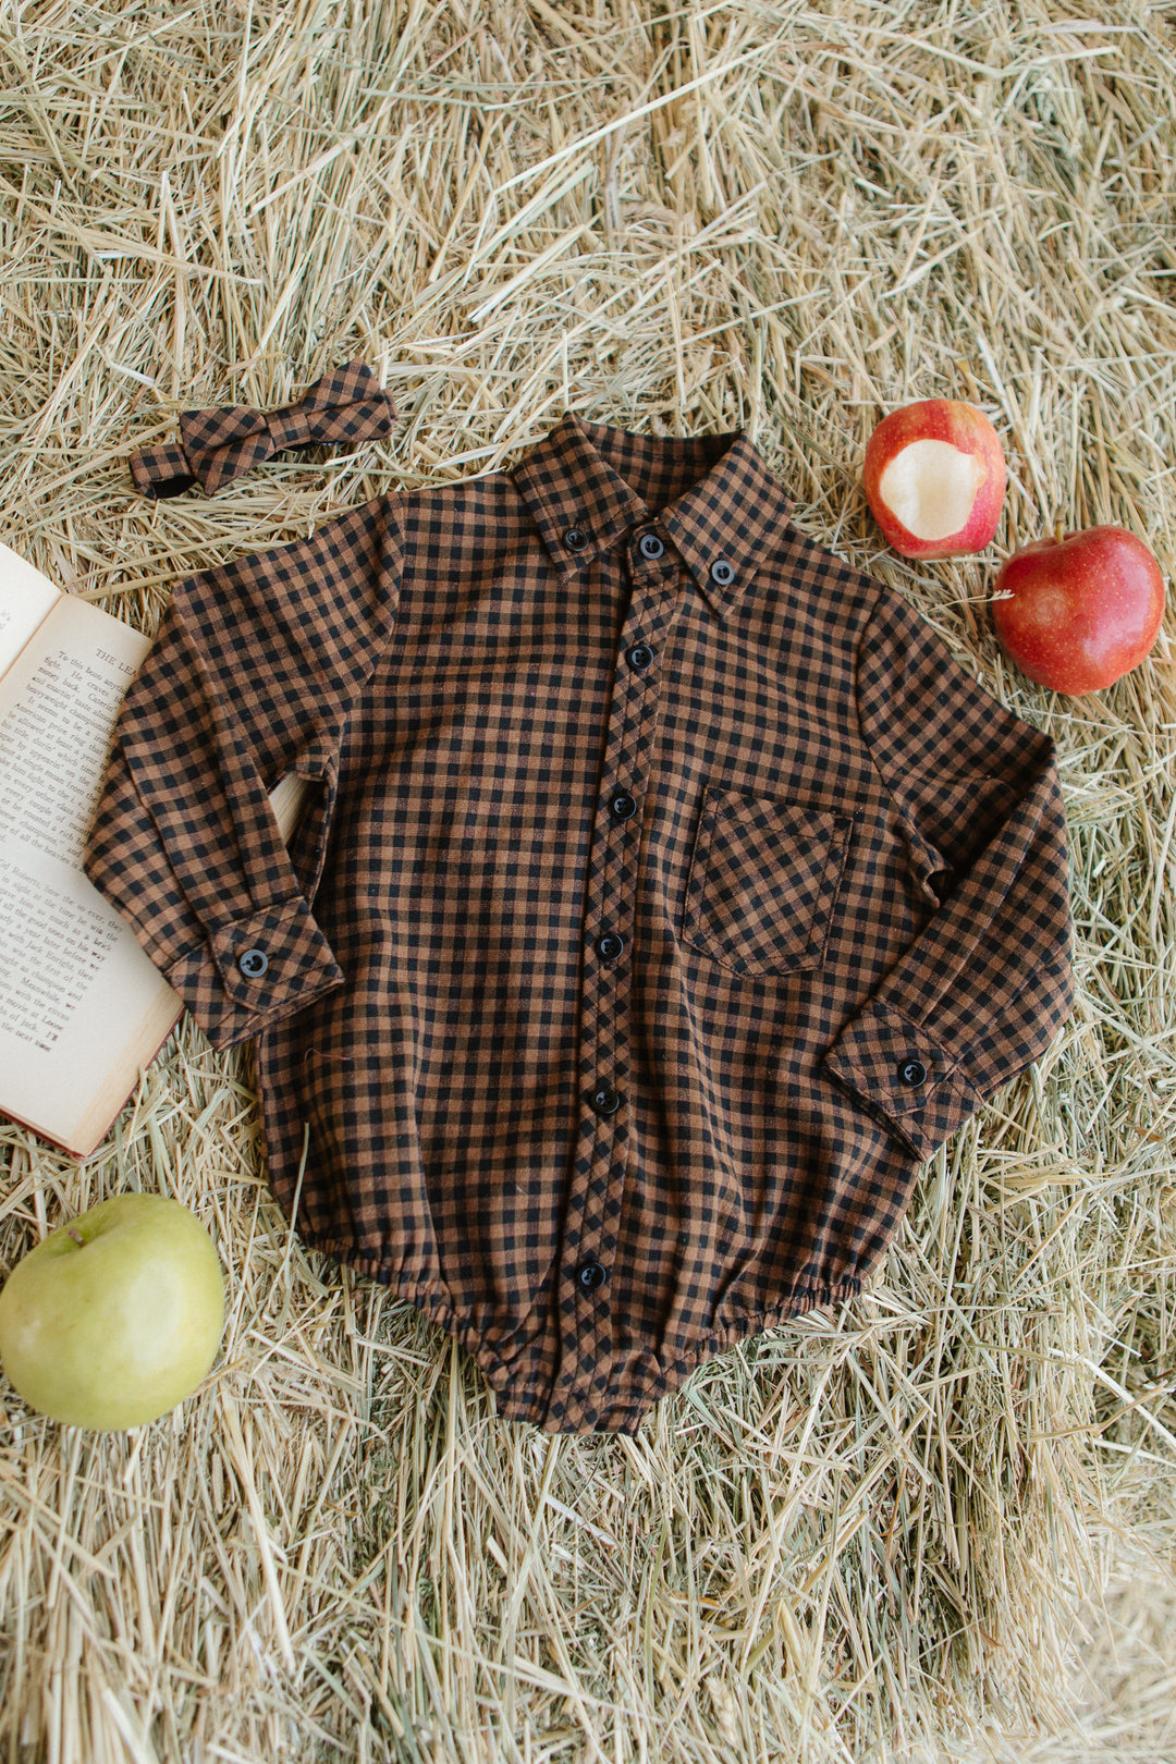
{"label": "red apple with a bite taken out", "polygon": [[866,501],[903,557],[984,550],[1005,499],[1005,450],[975,404],[924,399],[866,443]]}

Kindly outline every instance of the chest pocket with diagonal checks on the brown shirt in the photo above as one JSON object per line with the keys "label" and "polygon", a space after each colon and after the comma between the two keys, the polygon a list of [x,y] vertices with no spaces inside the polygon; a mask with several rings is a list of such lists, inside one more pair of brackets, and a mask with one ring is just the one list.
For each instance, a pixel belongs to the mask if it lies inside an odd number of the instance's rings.
{"label": "chest pocket with diagonal checks on the brown shirt", "polygon": [[735,974],[820,967],[857,818],[709,787],[684,942]]}

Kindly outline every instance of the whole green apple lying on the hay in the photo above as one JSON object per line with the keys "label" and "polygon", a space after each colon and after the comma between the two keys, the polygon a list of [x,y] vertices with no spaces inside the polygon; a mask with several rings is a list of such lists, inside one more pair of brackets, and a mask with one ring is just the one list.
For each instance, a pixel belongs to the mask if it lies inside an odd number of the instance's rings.
{"label": "whole green apple lying on the hay", "polygon": [[199,1385],[220,1346],[208,1231],[164,1194],[115,1194],[53,1231],[0,1293],[0,1360],[30,1408],[138,1427]]}

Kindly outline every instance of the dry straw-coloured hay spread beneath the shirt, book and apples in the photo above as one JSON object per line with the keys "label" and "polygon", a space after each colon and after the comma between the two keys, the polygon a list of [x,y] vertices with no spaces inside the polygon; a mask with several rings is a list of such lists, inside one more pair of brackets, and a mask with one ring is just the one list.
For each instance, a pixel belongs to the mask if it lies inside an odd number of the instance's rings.
{"label": "dry straw-coloured hay spread beneath the shirt, book and apples", "polygon": [[[1090,16],[1095,11],[1097,16]],[[1172,621],[1107,693],[1009,669],[1014,543],[1176,552],[1176,18],[964,0],[0,7],[0,536],[153,628],[167,584],[564,409],[748,427],[797,522],[1058,741],[1079,1005],[926,1168],[885,1281],[635,1439],[494,1418],[432,1323],[291,1237],[249,1062],[185,1021],[85,1168],[2,1131],[0,1256],[176,1194],[227,1270],[129,1436],[0,1387],[0,1760],[1176,1759]],[[146,505],[189,404],[363,356],[361,455]],[[991,552],[913,566],[876,418],[979,402]]]}

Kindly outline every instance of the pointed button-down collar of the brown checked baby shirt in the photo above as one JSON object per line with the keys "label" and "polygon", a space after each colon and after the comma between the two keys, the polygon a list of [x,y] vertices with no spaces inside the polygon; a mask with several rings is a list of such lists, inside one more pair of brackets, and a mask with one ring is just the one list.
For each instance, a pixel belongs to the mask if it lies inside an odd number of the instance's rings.
{"label": "pointed button-down collar of the brown checked baby shirt", "polygon": [[[696,482],[658,515],[628,482],[652,489],[675,467],[688,480],[686,466]],[[617,534],[656,520],[718,617],[744,593],[792,512],[783,485],[742,432],[659,439],[568,411],[511,476],[561,575],[575,575]],[[665,497],[654,492],[656,501]]]}

